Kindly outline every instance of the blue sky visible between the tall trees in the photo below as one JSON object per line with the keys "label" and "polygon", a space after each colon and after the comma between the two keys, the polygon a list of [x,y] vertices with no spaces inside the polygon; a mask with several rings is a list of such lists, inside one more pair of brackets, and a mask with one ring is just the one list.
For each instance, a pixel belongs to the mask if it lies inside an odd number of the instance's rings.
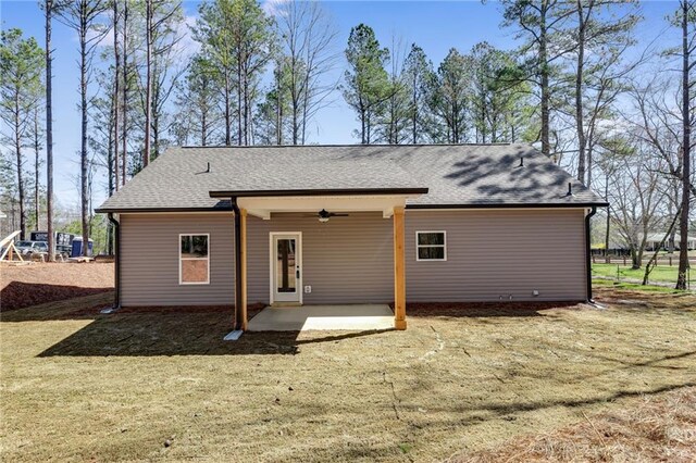
{"label": "blue sky visible between the tall trees", "polygon": [[[264,9],[273,12],[273,4],[265,0]],[[187,23],[194,24],[199,1],[184,1]],[[340,53],[335,70],[326,78],[339,80],[346,61],[341,53],[348,41],[350,28],[364,23],[371,26],[383,47],[396,40],[405,48],[418,43],[435,66],[450,48],[462,53],[475,43],[488,41],[501,49],[513,49],[517,45],[514,30],[502,28],[501,7],[495,1],[324,1],[325,10],[338,30],[336,52]],[[642,4],[645,20],[638,25],[636,49],[648,43],[664,47],[673,38],[667,30],[666,15],[673,13],[678,1],[645,1]],[[17,27],[25,36],[34,36],[42,46],[44,14],[37,1],[0,0],[0,24],[2,29]],[[678,43],[678,42],[673,42]],[[79,112],[77,37],[60,23],[53,24],[53,153],[55,198],[62,208],[76,209],[78,190],[76,175],[79,148]],[[191,45],[192,47],[192,45]],[[96,91],[92,84],[91,91]],[[358,127],[356,115],[336,91],[332,103],[316,116],[310,134],[310,142],[355,143]],[[95,205],[105,198],[105,180],[95,186]]]}

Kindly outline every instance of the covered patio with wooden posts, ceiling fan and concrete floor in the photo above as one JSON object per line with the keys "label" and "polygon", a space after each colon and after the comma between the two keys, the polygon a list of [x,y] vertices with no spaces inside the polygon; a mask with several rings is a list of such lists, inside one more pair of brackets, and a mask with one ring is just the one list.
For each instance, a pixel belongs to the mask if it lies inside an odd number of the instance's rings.
{"label": "covered patio with wooden posts, ceiling fan and concrete floor", "polygon": [[[283,191],[210,191],[213,198],[228,198],[233,205],[235,220],[235,262],[236,298],[235,329],[236,330],[309,330],[309,329],[406,329],[406,264],[405,264],[405,222],[403,213],[408,199],[418,198],[425,188],[378,188],[378,189],[346,189],[346,190],[283,190]],[[271,290],[270,305],[251,321],[248,320],[247,304],[249,296],[249,237],[248,226],[250,217],[256,221],[274,222],[274,216],[287,214],[316,214],[319,223],[326,223],[327,216],[322,213],[330,211],[337,215],[378,213],[381,220],[391,222],[393,246],[393,288],[394,311],[385,303],[361,303],[362,301],[332,301],[328,304],[303,301],[303,293],[311,289],[302,286],[303,275],[310,272],[309,263],[302,266],[301,233],[273,232],[271,236]],[[307,220],[307,218],[306,218]],[[311,220],[311,218],[310,218]],[[259,223],[259,222],[257,222]],[[258,229],[254,230],[258,233]],[[264,234],[265,235],[265,234]],[[254,235],[256,236],[256,235]],[[285,241],[284,255],[273,254],[279,241]],[[307,239],[306,241],[309,241]],[[309,243],[308,243],[309,246]],[[287,249],[290,249],[289,258]],[[257,248],[258,249],[258,248]],[[300,252],[301,251],[301,252]],[[278,251],[279,252],[279,251]],[[253,255],[252,259],[258,259]],[[265,258],[265,256],[264,256]],[[268,259],[268,258],[265,258]],[[275,262],[278,262],[276,265]],[[288,267],[288,262],[290,262]],[[274,266],[275,265],[275,266]],[[288,267],[288,268],[286,268]],[[278,268],[281,268],[278,271]],[[286,273],[291,280],[290,298],[287,292],[281,292],[278,287],[287,285]],[[283,284],[275,281],[278,275],[284,276]],[[285,291],[288,289],[285,288]],[[293,299],[295,293],[296,299]],[[389,298],[390,299],[390,298]],[[382,299],[384,302],[389,299]],[[290,302],[289,304],[285,302]],[[370,302],[365,300],[364,302]],[[281,306],[278,306],[281,305]]]}

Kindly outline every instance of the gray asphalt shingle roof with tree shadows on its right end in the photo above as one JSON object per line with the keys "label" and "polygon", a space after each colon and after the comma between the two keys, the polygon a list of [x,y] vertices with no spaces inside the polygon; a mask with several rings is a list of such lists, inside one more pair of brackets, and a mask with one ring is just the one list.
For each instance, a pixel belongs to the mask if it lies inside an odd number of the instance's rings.
{"label": "gray asphalt shingle roof with tree shadows on its right end", "polygon": [[[523,158],[523,166],[520,160]],[[210,172],[207,172],[210,163]],[[568,196],[568,184],[572,196]],[[409,208],[602,205],[530,145],[170,148],[100,212],[229,209],[212,191],[424,191]],[[373,191],[374,192],[374,191]]]}

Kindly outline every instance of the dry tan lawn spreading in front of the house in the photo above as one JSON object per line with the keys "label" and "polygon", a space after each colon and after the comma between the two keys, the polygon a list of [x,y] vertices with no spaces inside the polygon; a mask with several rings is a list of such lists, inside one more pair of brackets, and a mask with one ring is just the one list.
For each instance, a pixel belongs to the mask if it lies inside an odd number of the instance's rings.
{"label": "dry tan lawn spreading in front of the house", "polygon": [[696,297],[596,292],[610,309],[423,309],[406,331],[237,342],[221,308],[5,312],[2,460],[465,460],[696,385]]}

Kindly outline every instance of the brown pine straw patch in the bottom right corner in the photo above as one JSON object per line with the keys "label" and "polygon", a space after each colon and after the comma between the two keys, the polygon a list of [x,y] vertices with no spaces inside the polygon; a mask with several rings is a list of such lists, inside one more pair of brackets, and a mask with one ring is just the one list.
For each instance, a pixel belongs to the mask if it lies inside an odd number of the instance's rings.
{"label": "brown pine straw patch in the bottom right corner", "polygon": [[584,415],[579,424],[514,439],[497,450],[459,455],[451,463],[694,462],[696,387],[642,397],[624,410]]}

